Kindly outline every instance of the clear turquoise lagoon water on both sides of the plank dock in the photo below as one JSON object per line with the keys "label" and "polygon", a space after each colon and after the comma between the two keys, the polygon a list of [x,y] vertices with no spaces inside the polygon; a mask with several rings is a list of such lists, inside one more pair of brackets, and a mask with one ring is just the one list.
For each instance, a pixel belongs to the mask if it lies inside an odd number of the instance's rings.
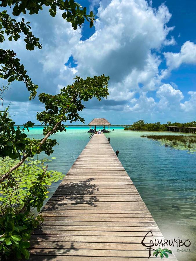
{"label": "clear turquoise lagoon water on both sides of the plank dock", "polygon": [[[113,128],[115,131],[105,135],[110,137],[112,148],[119,150],[121,163],[164,237],[191,241],[190,252],[177,252],[177,247],[173,248],[176,257],[179,261],[196,260],[196,153],[165,148],[158,141],[140,137],[152,132],[123,131],[123,127],[111,127],[111,130]],[[65,133],[52,135],[59,145],[50,157],[41,154],[39,159],[56,157],[48,162],[48,168],[66,174],[89,141],[88,130],[88,127],[74,126],[68,127]],[[41,139],[42,127],[34,127],[29,134]],[[59,183],[51,186],[50,195]]]}

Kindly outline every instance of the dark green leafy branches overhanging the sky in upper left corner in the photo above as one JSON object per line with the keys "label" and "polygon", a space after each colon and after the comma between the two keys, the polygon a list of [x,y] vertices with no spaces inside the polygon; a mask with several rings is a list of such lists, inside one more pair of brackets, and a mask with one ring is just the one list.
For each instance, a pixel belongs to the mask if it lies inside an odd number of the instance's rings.
{"label": "dark green leafy branches overhanging the sky in upper left corner", "polygon": [[[1,1],[1,7],[12,8],[12,15],[18,16],[21,13],[38,14],[43,10],[44,6],[49,6],[49,12],[52,17],[57,14],[57,8],[64,10],[62,18],[70,22],[73,29],[76,30],[86,21],[90,22],[90,27],[93,26],[95,15],[91,11],[90,14],[86,13],[86,7],[82,7],[79,3],[73,0],[66,1],[28,1],[28,0],[7,0]],[[13,17],[7,14],[7,10],[0,12],[0,42],[5,41],[5,35],[8,36],[9,41],[17,41],[21,36],[24,37],[27,50],[34,50],[35,48],[41,49],[39,37],[35,37],[31,31],[30,22],[26,22],[24,18],[21,21],[16,21]],[[20,60],[16,57],[13,50],[3,50],[0,48],[0,77],[7,79],[8,82],[14,80],[23,81],[26,88],[30,91],[30,99],[33,99],[37,93],[38,86],[33,84],[30,77],[26,74],[26,70]]]}

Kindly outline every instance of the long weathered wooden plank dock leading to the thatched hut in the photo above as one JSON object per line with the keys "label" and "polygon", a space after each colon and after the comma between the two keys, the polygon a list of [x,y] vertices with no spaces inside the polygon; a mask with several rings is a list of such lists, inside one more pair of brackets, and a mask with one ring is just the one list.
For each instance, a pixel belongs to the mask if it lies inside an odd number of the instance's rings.
{"label": "long weathered wooden plank dock leading to the thatched hut", "polygon": [[141,241],[149,230],[164,239],[103,133],[90,139],[42,215],[30,260],[155,260]]}

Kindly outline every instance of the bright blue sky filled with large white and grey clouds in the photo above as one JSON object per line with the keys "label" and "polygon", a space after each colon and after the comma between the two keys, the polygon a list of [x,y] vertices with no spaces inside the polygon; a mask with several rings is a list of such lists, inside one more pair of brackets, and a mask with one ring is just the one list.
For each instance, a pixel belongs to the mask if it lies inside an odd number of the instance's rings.
{"label": "bright blue sky filled with large white and grey clouds", "polygon": [[[110,96],[85,104],[86,124],[94,117],[112,124],[196,120],[196,1],[78,2],[97,14],[94,28],[85,23],[73,31],[60,13],[52,18],[45,8],[25,17],[40,37],[41,51],[24,51],[22,41],[4,43],[17,53],[39,92],[57,93],[75,75],[104,73],[110,76]],[[39,124],[35,117],[43,107],[36,99],[28,101],[23,84],[12,84],[5,106],[10,102],[15,122]]]}

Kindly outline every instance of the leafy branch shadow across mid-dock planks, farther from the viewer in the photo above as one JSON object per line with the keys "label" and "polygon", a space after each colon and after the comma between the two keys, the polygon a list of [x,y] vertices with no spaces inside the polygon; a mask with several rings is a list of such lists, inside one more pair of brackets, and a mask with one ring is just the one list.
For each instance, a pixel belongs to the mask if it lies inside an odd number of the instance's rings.
{"label": "leafy branch shadow across mid-dock planks, farther from the viewer", "polygon": [[[78,204],[97,206],[95,202],[99,200],[97,196],[93,196],[92,194],[99,191],[99,189],[98,185],[92,183],[93,180],[94,178],[89,178],[79,182],[67,182],[67,184],[60,184],[41,212],[54,211],[54,209],[58,209],[58,206],[66,206],[68,204],[73,206]],[[61,202],[63,200],[68,200],[72,203]]]}

